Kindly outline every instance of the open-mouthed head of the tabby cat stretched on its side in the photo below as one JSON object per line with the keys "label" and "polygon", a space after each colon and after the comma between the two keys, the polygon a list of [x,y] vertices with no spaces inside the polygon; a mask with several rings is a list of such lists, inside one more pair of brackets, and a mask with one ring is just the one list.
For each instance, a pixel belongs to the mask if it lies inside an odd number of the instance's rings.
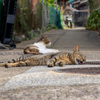
{"label": "open-mouthed head of the tabby cat stretched on its side", "polygon": [[80,65],[86,62],[86,57],[79,50],[79,45],[76,45],[73,52],[75,64]]}

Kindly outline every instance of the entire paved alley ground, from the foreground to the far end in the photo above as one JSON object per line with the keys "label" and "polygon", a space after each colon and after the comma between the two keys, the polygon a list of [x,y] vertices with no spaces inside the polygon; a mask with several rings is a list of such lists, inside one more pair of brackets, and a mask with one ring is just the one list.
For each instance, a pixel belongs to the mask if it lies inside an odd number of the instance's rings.
{"label": "entire paved alley ground, from the foreground to the far end", "polygon": [[[87,56],[88,60],[100,60],[100,37],[96,32],[84,29],[52,30],[44,33],[44,35],[48,35],[51,39],[52,48],[72,52],[74,46],[79,44],[81,51]],[[19,57],[20,54],[23,54],[23,48],[27,44],[34,43],[39,38],[40,36],[17,44],[15,50],[1,50],[0,62]],[[75,67],[94,67],[94,65],[65,66],[65,68]],[[95,67],[100,67],[100,65]],[[59,67],[51,69],[46,66],[9,69],[1,67],[0,100],[100,100],[99,75],[56,74],[52,72],[53,69],[59,69]],[[3,89],[5,91],[1,92]],[[7,89],[11,90],[6,91]]]}

